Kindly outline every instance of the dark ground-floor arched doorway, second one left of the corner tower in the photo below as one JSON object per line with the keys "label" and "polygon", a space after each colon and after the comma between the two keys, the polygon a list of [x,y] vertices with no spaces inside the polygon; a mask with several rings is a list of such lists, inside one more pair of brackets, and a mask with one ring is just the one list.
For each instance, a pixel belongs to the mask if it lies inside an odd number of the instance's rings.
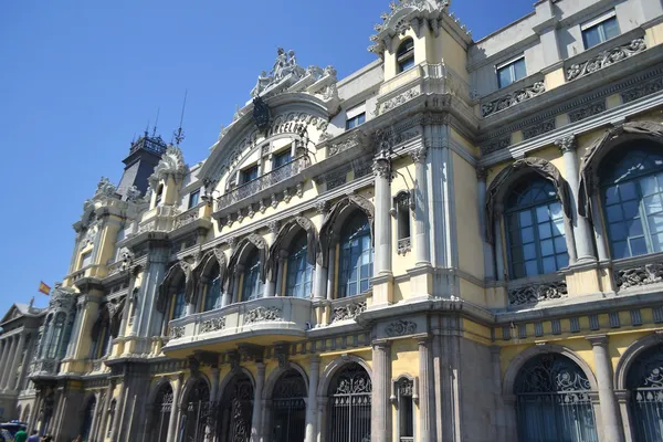
{"label": "dark ground-floor arched doorway, second one left of the corner tower", "polygon": [[272,392],[272,442],[303,441],[306,432],[306,385],[297,370],[285,371]]}

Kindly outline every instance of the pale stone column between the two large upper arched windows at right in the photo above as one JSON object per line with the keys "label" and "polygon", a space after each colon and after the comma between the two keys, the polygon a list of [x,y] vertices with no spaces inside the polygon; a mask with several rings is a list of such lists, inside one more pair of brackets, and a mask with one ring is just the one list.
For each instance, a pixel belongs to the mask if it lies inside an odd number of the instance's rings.
{"label": "pale stone column between the two large upper arched windows at right", "polygon": [[591,227],[589,220],[578,215],[578,156],[576,155],[576,136],[570,135],[555,141],[561,150],[564,158],[565,178],[571,188],[571,222],[573,224],[573,238],[576,239],[576,253],[578,263],[596,261],[593,250]]}

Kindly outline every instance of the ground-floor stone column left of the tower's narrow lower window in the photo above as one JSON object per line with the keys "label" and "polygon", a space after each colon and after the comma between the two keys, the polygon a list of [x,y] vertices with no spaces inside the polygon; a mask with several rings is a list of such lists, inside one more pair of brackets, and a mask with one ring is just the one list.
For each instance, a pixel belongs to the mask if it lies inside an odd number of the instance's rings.
{"label": "ground-floor stone column left of the tower's narrow lower window", "polygon": [[391,442],[391,346],[372,345],[371,442]]}

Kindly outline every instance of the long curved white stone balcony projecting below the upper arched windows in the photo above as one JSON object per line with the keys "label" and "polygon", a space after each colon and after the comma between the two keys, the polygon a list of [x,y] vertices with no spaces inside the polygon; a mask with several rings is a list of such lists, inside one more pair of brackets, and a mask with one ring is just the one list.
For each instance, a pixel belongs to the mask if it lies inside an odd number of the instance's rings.
{"label": "long curved white stone balcony projecting below the upper arched windows", "polygon": [[164,352],[186,357],[193,350],[221,351],[238,341],[298,340],[312,326],[313,303],[295,297],[263,297],[189,315],[169,324]]}

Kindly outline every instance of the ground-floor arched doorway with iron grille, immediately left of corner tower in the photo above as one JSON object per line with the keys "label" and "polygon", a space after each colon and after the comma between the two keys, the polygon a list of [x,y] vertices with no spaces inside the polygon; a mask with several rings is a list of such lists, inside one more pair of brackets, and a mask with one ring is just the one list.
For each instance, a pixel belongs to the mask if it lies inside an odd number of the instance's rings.
{"label": "ground-floor arched doorway with iron grille, immediately left of corner tower", "polygon": [[344,366],[329,385],[330,442],[370,441],[370,403],[372,383],[357,362]]}

